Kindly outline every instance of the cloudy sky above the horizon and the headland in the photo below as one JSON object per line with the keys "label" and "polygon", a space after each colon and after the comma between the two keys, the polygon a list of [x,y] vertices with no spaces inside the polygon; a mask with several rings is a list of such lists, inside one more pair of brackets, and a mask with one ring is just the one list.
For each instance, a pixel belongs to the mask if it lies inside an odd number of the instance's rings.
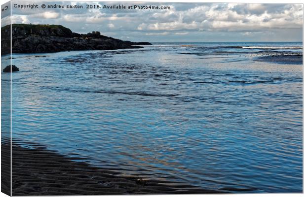
{"label": "cloudy sky above the horizon and the headland", "polygon": [[[12,22],[56,24],[73,32],[102,34],[132,41],[302,41],[303,4],[90,2],[113,5],[165,5],[170,10],[86,9],[82,1],[13,1],[38,4],[12,9]],[[83,9],[41,8],[83,5]],[[3,16],[2,16],[3,17]],[[5,20],[2,19],[3,24]],[[2,24],[2,26],[3,26]]]}

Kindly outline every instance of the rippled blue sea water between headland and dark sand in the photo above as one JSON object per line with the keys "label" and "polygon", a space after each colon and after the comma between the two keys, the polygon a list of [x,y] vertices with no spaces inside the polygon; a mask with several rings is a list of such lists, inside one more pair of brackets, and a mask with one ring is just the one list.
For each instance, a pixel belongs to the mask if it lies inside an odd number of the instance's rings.
{"label": "rippled blue sea water between headland and dark sand", "polygon": [[303,65],[258,59],[302,53],[301,42],[155,42],[13,54],[13,138],[124,175],[302,192]]}

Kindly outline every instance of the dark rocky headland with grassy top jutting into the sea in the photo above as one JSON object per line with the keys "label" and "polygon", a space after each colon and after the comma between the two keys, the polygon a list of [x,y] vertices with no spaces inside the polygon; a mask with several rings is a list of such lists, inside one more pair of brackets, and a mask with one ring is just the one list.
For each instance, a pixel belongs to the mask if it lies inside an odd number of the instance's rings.
{"label": "dark rocky headland with grassy top jutting into the sea", "polygon": [[[143,48],[149,42],[131,42],[101,35],[74,33],[61,25],[12,25],[12,53],[51,53],[79,50]],[[1,28],[1,55],[10,53],[10,26]]]}

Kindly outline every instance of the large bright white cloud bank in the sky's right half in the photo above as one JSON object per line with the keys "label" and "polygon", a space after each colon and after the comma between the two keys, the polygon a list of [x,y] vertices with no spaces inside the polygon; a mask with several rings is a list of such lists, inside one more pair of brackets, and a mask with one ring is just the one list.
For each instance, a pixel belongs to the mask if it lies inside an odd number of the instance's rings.
{"label": "large bright white cloud bank in the sky's right half", "polygon": [[[248,12],[238,13],[246,9]],[[254,13],[252,13],[254,12]],[[158,17],[167,17],[159,13]],[[214,4],[203,5],[188,10],[178,11],[177,18],[171,22],[145,24],[137,27],[139,31],[262,31],[263,29],[298,29],[303,25],[303,5],[283,5],[281,12],[273,12],[265,4]]]}

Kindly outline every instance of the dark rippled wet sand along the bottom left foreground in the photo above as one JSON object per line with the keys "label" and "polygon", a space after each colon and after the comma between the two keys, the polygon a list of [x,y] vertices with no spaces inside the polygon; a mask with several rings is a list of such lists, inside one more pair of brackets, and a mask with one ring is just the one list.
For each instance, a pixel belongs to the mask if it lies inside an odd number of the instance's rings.
{"label": "dark rippled wet sand along the bottom left foreground", "polygon": [[[25,148],[18,142],[12,145],[13,196],[228,193],[182,183],[144,180],[140,176],[123,176],[112,170],[76,162],[85,158],[60,155],[35,143],[29,145],[33,148]],[[2,154],[7,158],[8,144],[2,144]]]}

